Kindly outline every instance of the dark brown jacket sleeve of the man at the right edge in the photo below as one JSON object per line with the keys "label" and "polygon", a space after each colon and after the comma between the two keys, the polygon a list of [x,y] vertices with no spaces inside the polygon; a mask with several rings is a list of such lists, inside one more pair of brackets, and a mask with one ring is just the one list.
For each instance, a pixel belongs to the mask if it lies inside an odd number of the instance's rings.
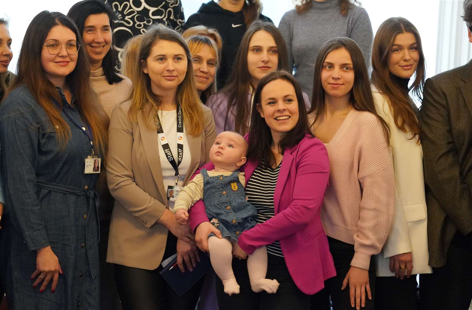
{"label": "dark brown jacket sleeve of the man at the right edge", "polygon": [[465,182],[459,165],[450,129],[454,102],[448,102],[443,87],[434,79],[428,79],[424,87],[419,114],[424,178],[441,208],[466,235],[472,231],[472,184]]}

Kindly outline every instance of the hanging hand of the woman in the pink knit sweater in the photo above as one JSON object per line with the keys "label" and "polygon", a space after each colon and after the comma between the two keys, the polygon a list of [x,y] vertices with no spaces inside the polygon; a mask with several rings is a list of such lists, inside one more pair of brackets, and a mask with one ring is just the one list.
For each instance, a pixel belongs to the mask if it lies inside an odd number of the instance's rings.
{"label": "hanging hand of the woman in the pink knit sweater", "polygon": [[344,278],[341,290],[344,290],[349,284],[349,295],[351,297],[351,307],[355,307],[357,310],[365,307],[365,292],[367,291],[367,297],[372,299],[371,287],[369,285],[369,270],[351,266],[349,271]]}

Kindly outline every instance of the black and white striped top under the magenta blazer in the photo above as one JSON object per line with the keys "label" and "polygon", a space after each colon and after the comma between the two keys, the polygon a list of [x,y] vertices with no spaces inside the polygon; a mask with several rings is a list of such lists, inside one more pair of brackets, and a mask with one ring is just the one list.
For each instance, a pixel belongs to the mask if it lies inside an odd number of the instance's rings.
{"label": "black and white striped top under the magenta blazer", "polygon": [[[281,164],[282,162],[274,169],[259,164],[247,182],[245,188],[246,196],[249,199],[249,203],[257,209],[257,224],[264,223],[274,216],[274,192]],[[281,257],[284,256],[278,241],[266,247],[268,253]]]}

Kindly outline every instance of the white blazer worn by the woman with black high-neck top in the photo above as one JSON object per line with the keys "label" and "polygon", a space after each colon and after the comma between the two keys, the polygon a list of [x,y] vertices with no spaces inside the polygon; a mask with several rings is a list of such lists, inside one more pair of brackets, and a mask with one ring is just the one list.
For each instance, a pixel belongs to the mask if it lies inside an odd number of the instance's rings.
{"label": "white blazer worn by the woman with black high-neck top", "polygon": [[423,177],[423,153],[413,134],[405,134],[395,125],[387,99],[372,88],[375,108],[390,127],[395,173],[395,214],[382,251],[376,255],[377,276],[395,276],[390,272],[390,257],[412,252],[412,274],[431,273],[428,266],[428,224]]}

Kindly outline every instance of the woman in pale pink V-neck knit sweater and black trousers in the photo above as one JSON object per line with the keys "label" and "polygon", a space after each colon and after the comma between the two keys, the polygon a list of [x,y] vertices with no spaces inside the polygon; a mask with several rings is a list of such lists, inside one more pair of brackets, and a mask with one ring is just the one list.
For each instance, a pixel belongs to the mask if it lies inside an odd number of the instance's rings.
{"label": "woman in pale pink V-neck knit sweater and black trousers", "polygon": [[374,309],[375,261],[392,222],[395,181],[387,123],[377,115],[367,67],[346,37],[321,48],[313,82],[312,132],[329,155],[321,209],[337,276],[312,297],[312,309]]}

